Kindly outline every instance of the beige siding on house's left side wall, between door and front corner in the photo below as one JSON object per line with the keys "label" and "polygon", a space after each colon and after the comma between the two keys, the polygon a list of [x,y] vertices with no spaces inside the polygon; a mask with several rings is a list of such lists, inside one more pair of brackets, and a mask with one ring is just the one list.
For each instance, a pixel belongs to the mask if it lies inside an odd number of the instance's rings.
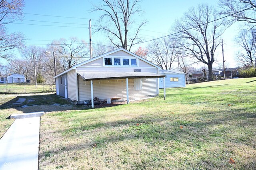
{"label": "beige siding on house's left side wall, between door and front corner", "polygon": [[76,100],[76,70],[67,72],[68,98]]}

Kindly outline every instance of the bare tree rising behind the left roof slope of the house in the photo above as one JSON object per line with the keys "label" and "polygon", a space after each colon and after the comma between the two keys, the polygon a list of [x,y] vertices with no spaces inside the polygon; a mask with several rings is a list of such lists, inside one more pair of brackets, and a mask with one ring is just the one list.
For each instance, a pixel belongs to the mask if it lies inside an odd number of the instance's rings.
{"label": "bare tree rising behind the left roof slope of the house", "polygon": [[53,51],[57,52],[56,55],[62,58],[65,70],[81,62],[89,53],[85,41],[79,41],[76,37],[70,37],[69,40],[62,38],[59,41],[53,41],[51,46]]}

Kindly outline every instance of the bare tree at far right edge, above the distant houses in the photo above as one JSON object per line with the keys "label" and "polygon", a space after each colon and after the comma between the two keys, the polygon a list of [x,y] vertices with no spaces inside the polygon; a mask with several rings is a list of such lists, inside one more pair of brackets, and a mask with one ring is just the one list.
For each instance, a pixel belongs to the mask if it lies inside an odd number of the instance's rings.
{"label": "bare tree at far right edge, above the distant houses", "polygon": [[[254,65],[256,62],[256,53],[255,53],[255,30],[251,29],[250,31],[242,30],[240,35],[236,39],[236,43],[242,47],[242,51],[239,51],[236,54],[237,60],[242,63],[244,66],[251,64]],[[255,63],[256,64],[256,63]]]}

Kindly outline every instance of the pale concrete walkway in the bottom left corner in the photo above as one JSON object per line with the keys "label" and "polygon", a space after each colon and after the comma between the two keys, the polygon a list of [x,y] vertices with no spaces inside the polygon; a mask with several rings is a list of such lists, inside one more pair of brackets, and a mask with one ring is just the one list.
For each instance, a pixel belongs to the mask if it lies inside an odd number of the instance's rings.
{"label": "pale concrete walkway in the bottom left corner", "polygon": [[37,170],[40,117],[16,119],[0,140],[0,170]]}

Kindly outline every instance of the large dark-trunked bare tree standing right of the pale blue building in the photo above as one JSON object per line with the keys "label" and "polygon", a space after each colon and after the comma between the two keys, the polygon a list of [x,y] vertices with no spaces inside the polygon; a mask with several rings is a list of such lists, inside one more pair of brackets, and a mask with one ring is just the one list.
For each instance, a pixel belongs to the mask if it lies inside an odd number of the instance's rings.
{"label": "large dark-trunked bare tree standing right of the pale blue building", "polygon": [[175,31],[180,51],[208,66],[209,81],[212,81],[212,64],[214,53],[220,45],[218,39],[225,31],[223,20],[218,19],[219,13],[208,4],[199,4],[184,14],[184,18],[176,21]]}

